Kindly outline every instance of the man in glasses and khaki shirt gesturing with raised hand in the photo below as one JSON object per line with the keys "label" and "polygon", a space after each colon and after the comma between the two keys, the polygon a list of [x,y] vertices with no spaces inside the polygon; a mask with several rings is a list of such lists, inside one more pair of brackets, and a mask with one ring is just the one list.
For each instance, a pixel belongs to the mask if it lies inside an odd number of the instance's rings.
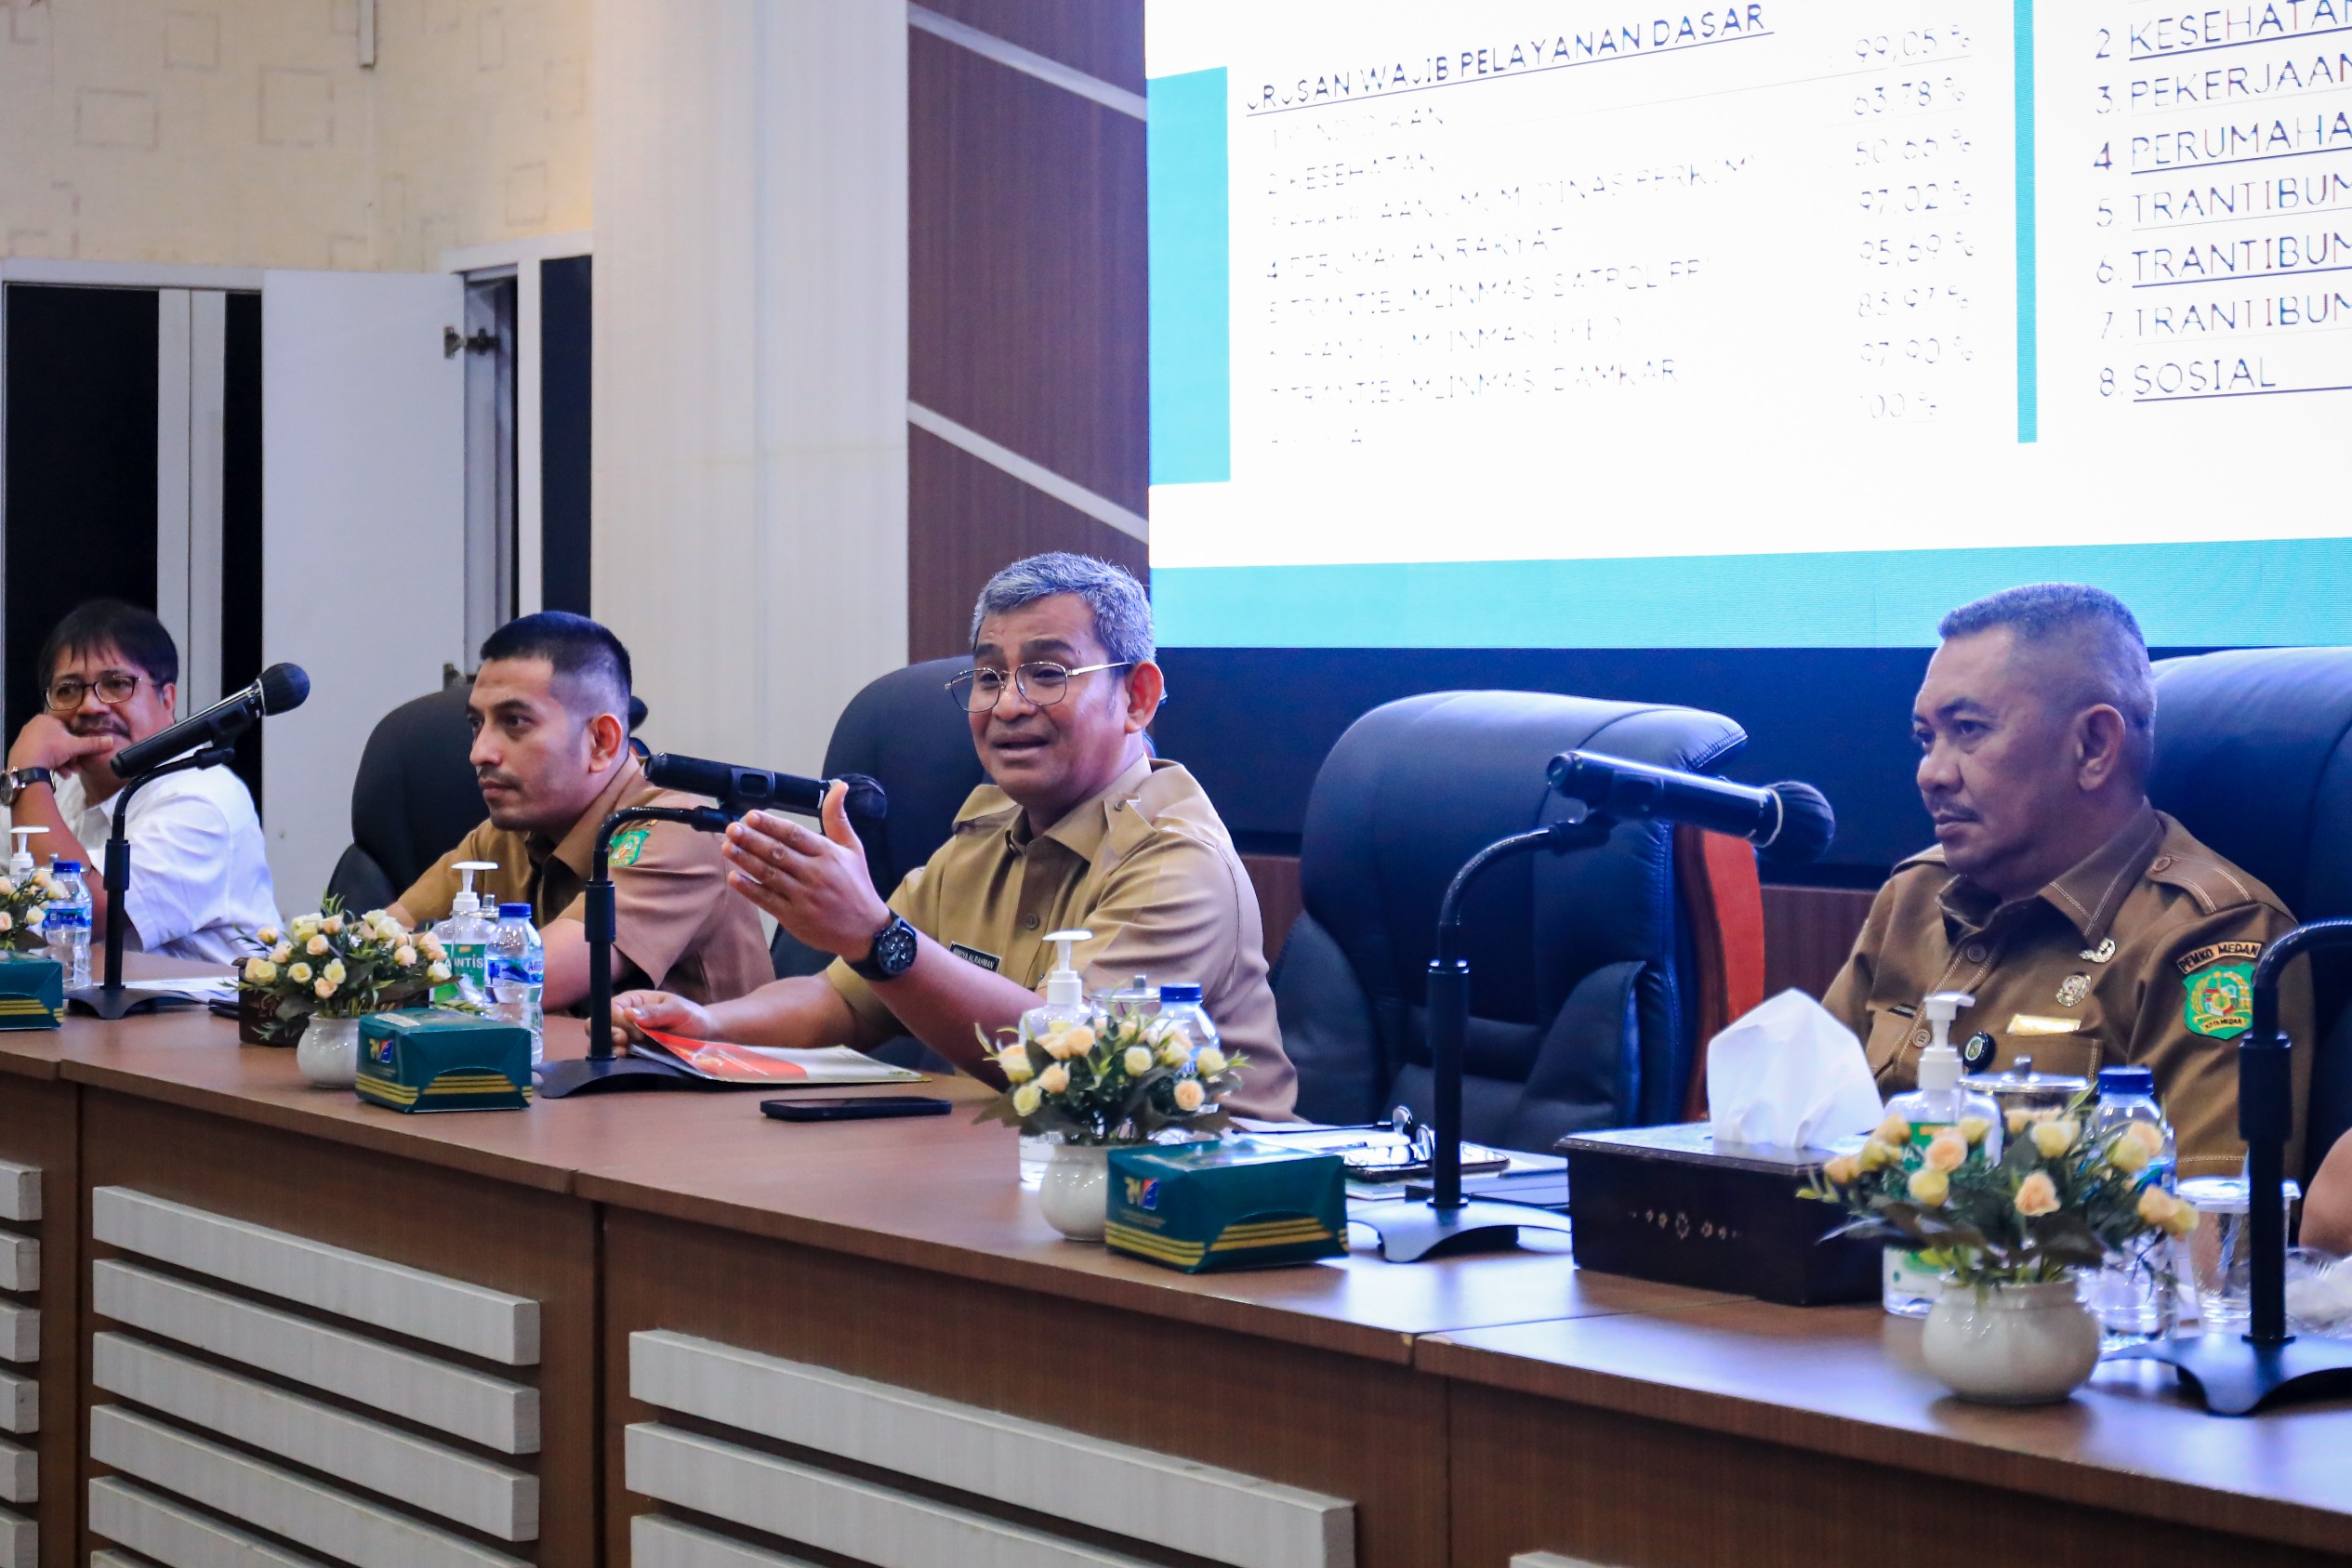
{"label": "man in glasses and khaki shirt gesturing with raised hand", "polygon": [[1037,1006],[1044,936],[1077,926],[1094,933],[1075,952],[1089,990],[1197,980],[1225,1048],[1247,1058],[1228,1105],[1287,1117],[1296,1072],[1249,875],[1202,788],[1143,741],[1162,696],[1143,588],[1096,559],[1030,557],[981,592],[971,644],[976,668],[943,701],[971,715],[995,783],[889,903],[840,792],[821,835],[767,813],[729,830],[734,886],[835,964],[724,1006],[621,997],[621,1018],[762,1046],[910,1032],[978,1070],[974,1023],[1004,1030]]}

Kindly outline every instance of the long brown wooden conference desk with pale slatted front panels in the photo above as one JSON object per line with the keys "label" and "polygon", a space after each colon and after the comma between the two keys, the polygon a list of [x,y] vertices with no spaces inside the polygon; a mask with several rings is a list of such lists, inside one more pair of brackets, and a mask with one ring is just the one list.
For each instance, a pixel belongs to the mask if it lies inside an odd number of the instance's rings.
{"label": "long brown wooden conference desk with pale slatted front panels", "polygon": [[2343,1403],[1973,1408],[1915,1324],[1548,1248],[1183,1276],[1056,1239],[1004,1128],[755,1100],[400,1117],[205,1013],[0,1034],[0,1568],[2352,1552]]}

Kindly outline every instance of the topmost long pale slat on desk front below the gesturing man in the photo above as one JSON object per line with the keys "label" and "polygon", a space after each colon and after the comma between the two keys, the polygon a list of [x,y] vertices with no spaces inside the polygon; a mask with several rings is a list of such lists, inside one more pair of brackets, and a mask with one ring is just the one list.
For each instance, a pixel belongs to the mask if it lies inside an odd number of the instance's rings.
{"label": "topmost long pale slat on desk front below the gesturing man", "polygon": [[630,1394],[1235,1568],[1355,1561],[1355,1509],[1294,1486],[677,1333],[630,1335]]}

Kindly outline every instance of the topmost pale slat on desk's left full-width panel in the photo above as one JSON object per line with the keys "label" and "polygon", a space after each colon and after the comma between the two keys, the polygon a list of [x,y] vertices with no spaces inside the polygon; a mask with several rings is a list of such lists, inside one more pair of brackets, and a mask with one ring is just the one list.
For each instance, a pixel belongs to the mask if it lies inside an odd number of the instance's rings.
{"label": "topmost pale slat on desk's left full-width panel", "polygon": [[129,1187],[89,1194],[99,1241],[506,1366],[539,1361],[539,1302]]}

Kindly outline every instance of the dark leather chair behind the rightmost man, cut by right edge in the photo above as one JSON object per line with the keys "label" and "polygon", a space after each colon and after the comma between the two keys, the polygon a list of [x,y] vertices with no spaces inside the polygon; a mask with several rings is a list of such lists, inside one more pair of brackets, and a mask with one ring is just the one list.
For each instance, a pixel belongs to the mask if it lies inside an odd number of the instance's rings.
{"label": "dark leather chair behind the rightmost man, cut by right edge", "polygon": [[[2270,884],[2296,919],[2352,914],[2352,649],[2234,649],[2157,665],[2147,785],[2199,839]],[[2319,1048],[2305,1157],[2352,1128],[2352,957],[2312,969]]]}

